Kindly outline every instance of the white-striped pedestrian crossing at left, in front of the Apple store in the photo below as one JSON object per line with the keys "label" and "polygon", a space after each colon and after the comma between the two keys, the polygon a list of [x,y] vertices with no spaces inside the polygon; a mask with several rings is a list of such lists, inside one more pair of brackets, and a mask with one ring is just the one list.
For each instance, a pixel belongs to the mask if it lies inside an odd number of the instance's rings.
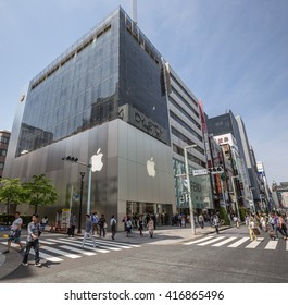
{"label": "white-striped pedestrian crossing at left, in front of the Apple store", "polygon": [[[101,255],[110,252],[121,252],[141,247],[141,245],[133,245],[109,240],[95,239],[95,242],[96,246],[93,247],[93,242],[88,239],[86,240],[84,247],[82,247],[82,237],[67,239],[64,236],[55,236],[41,239],[39,256],[40,258],[51,263],[61,263],[65,258],[76,259],[86,256],[95,256],[98,254]],[[7,245],[7,242],[1,242],[1,244]],[[11,247],[18,249],[18,245],[14,243],[11,243]],[[30,254],[35,255],[33,248],[30,249]],[[29,259],[32,259],[32,257]]]}

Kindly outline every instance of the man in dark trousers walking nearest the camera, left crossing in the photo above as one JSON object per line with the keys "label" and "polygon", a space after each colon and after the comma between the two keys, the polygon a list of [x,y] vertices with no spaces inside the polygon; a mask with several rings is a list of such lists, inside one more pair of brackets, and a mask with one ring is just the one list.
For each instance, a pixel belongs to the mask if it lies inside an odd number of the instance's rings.
{"label": "man in dark trousers walking nearest the camera, left crossing", "polygon": [[41,235],[41,227],[39,224],[39,217],[38,215],[32,216],[32,222],[28,224],[27,228],[27,243],[26,243],[26,251],[23,257],[22,265],[28,266],[28,256],[32,247],[35,252],[35,266],[41,267],[41,263],[39,260],[39,237]]}

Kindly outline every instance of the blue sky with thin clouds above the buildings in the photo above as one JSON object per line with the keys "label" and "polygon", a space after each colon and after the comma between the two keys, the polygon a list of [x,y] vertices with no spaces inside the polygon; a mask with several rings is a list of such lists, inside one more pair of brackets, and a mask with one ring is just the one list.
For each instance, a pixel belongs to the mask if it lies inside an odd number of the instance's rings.
{"label": "blue sky with thin clouds above the buildings", "polygon": [[[130,0],[0,0],[0,130],[21,89]],[[210,118],[245,122],[271,185],[288,181],[288,1],[138,0],[138,26]]]}

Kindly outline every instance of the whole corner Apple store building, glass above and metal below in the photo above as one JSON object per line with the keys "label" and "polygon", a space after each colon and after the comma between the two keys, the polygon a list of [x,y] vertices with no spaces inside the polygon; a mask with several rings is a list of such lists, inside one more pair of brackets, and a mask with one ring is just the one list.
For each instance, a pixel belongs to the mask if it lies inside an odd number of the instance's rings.
{"label": "whole corner Apple store building, glass above and metal below", "polygon": [[[39,207],[115,215],[175,212],[164,62],[123,9],[23,89],[4,178],[46,174],[59,194]],[[67,158],[70,156],[70,158]],[[21,205],[23,212],[33,212]]]}

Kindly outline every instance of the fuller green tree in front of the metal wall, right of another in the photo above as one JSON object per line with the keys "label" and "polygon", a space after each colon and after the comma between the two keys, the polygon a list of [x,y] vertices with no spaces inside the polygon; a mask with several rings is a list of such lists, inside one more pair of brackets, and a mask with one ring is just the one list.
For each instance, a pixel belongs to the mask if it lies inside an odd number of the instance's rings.
{"label": "fuller green tree in front of the metal wall, right of another", "polygon": [[23,184],[26,194],[26,203],[34,206],[34,212],[37,213],[38,206],[53,205],[58,198],[54,185],[51,179],[45,174],[34,175],[33,182]]}

